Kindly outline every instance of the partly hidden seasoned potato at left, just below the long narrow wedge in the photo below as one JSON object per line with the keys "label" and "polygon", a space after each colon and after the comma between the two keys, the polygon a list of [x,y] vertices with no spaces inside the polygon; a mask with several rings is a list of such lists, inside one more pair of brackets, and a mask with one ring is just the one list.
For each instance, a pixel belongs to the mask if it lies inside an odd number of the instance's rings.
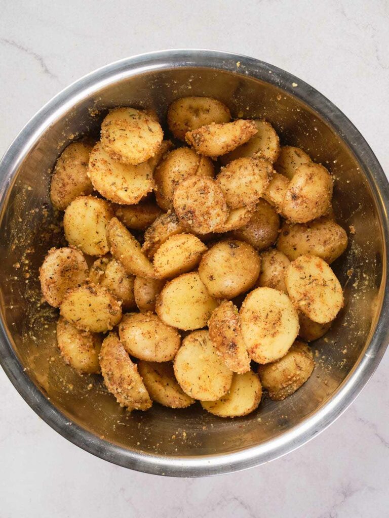
{"label": "partly hidden seasoned potato at left, just below the long narrow wedge", "polygon": [[89,269],[89,282],[101,284],[112,291],[122,308],[129,310],[136,307],[134,298],[134,276],[127,274],[119,261],[113,257],[96,260]]}

